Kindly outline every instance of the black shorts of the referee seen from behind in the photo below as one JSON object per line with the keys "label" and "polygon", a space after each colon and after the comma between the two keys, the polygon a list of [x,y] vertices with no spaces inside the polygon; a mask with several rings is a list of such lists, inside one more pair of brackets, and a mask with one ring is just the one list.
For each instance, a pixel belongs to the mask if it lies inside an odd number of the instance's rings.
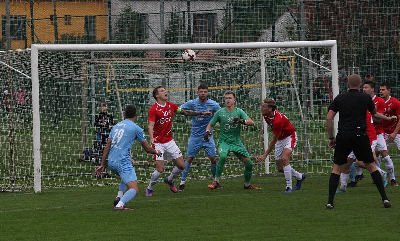
{"label": "black shorts of the referee seen from behind", "polygon": [[372,163],[373,153],[366,134],[357,136],[352,132],[339,132],[336,136],[336,148],[333,162],[337,165],[347,163],[347,156],[354,152],[355,157],[364,163]]}

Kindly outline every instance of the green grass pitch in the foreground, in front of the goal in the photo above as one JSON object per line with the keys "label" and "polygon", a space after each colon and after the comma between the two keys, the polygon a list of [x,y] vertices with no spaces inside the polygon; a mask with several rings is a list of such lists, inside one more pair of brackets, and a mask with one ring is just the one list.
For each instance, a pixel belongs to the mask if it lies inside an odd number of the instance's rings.
{"label": "green grass pitch in the foreground, in front of the goal", "polygon": [[[398,162],[395,163],[398,166]],[[399,173],[400,168],[397,168]],[[133,211],[113,211],[118,186],[44,189],[40,194],[1,193],[0,239],[50,240],[393,240],[400,212],[400,188],[386,188],[393,207],[383,208],[366,174],[356,188],[324,208],[329,175],[309,175],[303,188],[283,194],[283,176],[253,177],[262,190],[243,190],[243,178],[222,179],[224,189],[210,191],[210,181],[188,181],[172,193],[164,183],[154,196],[140,193],[127,204]],[[176,181],[178,184],[178,181]],[[295,184],[295,180],[293,181]]]}

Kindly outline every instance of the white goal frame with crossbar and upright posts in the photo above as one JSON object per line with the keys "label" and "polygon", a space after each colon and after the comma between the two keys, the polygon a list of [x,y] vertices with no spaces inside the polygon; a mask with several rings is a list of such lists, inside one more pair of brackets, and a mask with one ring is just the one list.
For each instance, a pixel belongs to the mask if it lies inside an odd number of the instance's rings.
{"label": "white goal frame with crossbar and upright posts", "polygon": [[[32,77],[32,110],[33,110],[33,168],[34,168],[34,191],[41,192],[41,143],[40,143],[40,102],[39,102],[39,52],[40,51],[150,51],[150,50],[218,50],[218,49],[262,49],[266,48],[302,48],[302,47],[330,47],[332,89],[333,97],[339,93],[337,43],[336,40],[329,41],[298,41],[298,42],[249,42],[249,43],[188,43],[188,44],[76,44],[76,45],[31,45],[31,77]],[[265,65],[261,65],[262,96],[266,97],[265,91]],[[338,116],[335,117],[335,134],[337,133]],[[264,126],[264,148],[267,148],[267,133]],[[268,164],[269,167],[269,164]],[[269,172],[269,168],[266,168]]]}

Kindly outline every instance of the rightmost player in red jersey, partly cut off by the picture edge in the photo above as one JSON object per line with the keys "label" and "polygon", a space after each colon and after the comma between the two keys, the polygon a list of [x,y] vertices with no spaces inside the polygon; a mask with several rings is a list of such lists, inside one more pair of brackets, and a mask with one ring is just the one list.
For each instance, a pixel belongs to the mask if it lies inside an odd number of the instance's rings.
{"label": "rightmost player in red jersey, partly cut off by the picture edge", "polygon": [[[380,96],[383,98],[385,101],[385,109],[384,109],[384,115],[391,117],[391,116],[396,116],[397,118],[400,118],[400,101],[398,101],[396,98],[393,98],[390,96],[391,92],[391,87],[390,84],[388,83],[383,83],[380,85],[379,88],[379,93]],[[387,145],[392,143],[393,141],[396,143],[397,148],[400,150],[400,121],[395,121],[395,122],[390,122],[390,121],[382,121],[382,127],[385,135],[385,139],[387,142]],[[394,165],[393,161],[390,159],[388,151],[382,151],[381,152],[383,160],[385,161],[386,164],[386,170],[387,173],[389,174],[390,182],[392,187],[397,187],[397,181],[394,175]]]}

